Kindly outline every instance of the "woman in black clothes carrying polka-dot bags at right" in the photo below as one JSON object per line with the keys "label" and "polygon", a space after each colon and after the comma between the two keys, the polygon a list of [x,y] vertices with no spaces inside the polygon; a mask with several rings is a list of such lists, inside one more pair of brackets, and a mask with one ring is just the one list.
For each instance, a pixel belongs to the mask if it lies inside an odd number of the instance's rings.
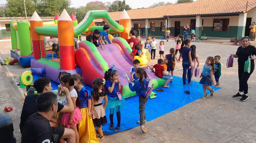
{"label": "woman in black clothes carrying polka-dot bags at right", "polygon": [[[248,84],[247,81],[250,78],[254,70],[254,59],[256,56],[256,48],[252,45],[249,45],[249,37],[242,37],[241,42],[242,46],[237,48],[236,54],[231,54],[235,58],[238,58],[238,78],[239,78],[239,92],[233,95],[234,98],[241,98],[241,101],[246,101],[248,99]],[[252,55],[250,57],[250,55]],[[248,60],[248,57],[251,58],[251,71],[250,73],[244,72],[244,63]]]}

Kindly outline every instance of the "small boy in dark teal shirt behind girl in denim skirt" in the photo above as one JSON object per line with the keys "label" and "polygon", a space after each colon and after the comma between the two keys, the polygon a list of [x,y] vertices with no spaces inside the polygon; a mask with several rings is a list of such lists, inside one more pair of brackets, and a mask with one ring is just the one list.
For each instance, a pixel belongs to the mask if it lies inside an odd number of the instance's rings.
{"label": "small boy in dark teal shirt behind girl in denim skirt", "polygon": [[214,56],[214,78],[216,81],[216,85],[214,88],[219,87],[219,77],[221,76],[221,63],[219,62],[220,56]]}

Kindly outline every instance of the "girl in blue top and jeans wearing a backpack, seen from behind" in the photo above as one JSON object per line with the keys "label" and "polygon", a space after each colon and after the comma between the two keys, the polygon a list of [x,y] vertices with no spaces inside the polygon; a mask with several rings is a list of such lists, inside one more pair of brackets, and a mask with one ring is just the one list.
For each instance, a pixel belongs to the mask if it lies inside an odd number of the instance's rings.
{"label": "girl in blue top and jeans wearing a backpack, seen from behind", "polygon": [[[144,71],[143,68],[136,68],[135,75],[139,80],[137,80],[132,86],[131,81],[129,82],[129,88],[131,91],[136,91],[137,96],[139,96],[139,114],[140,114],[140,121],[137,123],[140,124],[141,130],[146,133],[148,130],[146,127],[143,126],[143,124],[147,124],[146,115],[145,115],[145,106],[148,101],[148,98],[144,97],[143,90],[147,90],[147,87],[145,87],[146,82],[144,83],[144,79],[148,78],[147,73]],[[145,92],[144,92],[145,93]]]}

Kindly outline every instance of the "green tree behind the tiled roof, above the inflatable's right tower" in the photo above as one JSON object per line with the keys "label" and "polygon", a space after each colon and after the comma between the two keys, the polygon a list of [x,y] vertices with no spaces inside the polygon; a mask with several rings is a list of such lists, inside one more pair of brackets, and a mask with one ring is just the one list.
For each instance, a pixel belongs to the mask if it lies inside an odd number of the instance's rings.
{"label": "green tree behind the tiled roof, above the inflatable's right tower", "polygon": [[109,6],[108,11],[109,12],[117,12],[117,11],[123,11],[132,9],[129,5],[125,3],[125,0],[123,1],[114,1],[112,3],[107,3]]}

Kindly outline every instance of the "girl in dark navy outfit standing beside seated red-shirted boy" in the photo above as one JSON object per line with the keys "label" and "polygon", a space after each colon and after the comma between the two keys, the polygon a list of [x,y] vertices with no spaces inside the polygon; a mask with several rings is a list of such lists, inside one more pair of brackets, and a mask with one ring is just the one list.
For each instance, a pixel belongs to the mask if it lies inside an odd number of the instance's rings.
{"label": "girl in dark navy outfit standing beside seated red-shirted boy", "polygon": [[167,71],[169,72],[169,74],[171,74],[171,81],[170,82],[173,82],[173,71],[174,71],[174,68],[173,68],[173,62],[175,62],[175,59],[180,62],[178,60],[178,58],[176,57],[175,55],[175,49],[174,48],[171,48],[170,49],[170,54],[167,54],[165,55],[165,59],[164,59],[164,64],[167,62]]}

